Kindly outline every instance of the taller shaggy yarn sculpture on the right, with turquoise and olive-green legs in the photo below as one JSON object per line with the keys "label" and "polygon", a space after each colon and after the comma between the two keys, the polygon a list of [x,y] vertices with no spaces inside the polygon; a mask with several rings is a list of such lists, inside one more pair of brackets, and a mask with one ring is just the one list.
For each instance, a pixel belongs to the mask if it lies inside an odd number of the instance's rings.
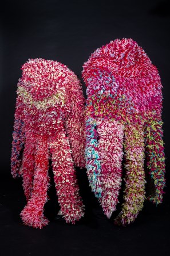
{"label": "taller shaggy yarn sculpture on the right, with turquoise and olive-green legs", "polygon": [[159,204],[165,186],[162,93],[157,68],[132,39],[110,41],[84,63],[86,169],[92,191],[110,218],[125,167],[124,203],[115,223],[133,222],[145,200],[144,158]]}

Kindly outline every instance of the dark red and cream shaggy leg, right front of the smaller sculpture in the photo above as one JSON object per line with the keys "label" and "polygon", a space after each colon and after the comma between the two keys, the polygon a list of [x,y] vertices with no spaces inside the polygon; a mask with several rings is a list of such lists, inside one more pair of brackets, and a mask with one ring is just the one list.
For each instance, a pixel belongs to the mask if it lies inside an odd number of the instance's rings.
{"label": "dark red and cream shaggy leg, right front of the smaller sculpture", "polygon": [[84,215],[84,207],[76,179],[68,138],[64,131],[58,131],[50,142],[54,182],[58,202],[66,222],[75,223]]}

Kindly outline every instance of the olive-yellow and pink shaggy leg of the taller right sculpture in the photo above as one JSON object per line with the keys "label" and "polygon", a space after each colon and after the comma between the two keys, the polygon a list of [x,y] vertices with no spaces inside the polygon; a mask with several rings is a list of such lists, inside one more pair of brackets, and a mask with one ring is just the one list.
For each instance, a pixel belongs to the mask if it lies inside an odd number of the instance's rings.
{"label": "olive-yellow and pink shaggy leg of the taller right sculpture", "polygon": [[125,128],[125,189],[122,210],[115,223],[133,222],[143,209],[145,200],[144,133],[141,125],[129,124]]}

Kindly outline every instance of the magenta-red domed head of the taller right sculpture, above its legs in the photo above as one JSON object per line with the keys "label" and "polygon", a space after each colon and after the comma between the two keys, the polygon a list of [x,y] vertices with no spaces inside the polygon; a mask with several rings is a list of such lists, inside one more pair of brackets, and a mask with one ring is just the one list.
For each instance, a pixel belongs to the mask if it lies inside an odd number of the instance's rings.
{"label": "magenta-red domed head of the taller right sculpture, above its legs", "polygon": [[116,39],[94,51],[84,63],[82,77],[88,100],[103,106],[103,113],[113,112],[115,105],[121,109],[126,106],[131,112],[161,105],[157,68],[132,39]]}

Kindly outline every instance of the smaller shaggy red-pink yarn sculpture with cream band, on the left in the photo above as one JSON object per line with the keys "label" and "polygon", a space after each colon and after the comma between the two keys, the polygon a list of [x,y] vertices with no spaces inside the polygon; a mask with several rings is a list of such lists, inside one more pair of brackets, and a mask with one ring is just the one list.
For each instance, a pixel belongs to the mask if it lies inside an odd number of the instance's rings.
{"label": "smaller shaggy red-pink yarn sculpture with cream band, on the left", "polygon": [[[66,222],[84,215],[76,166],[84,167],[84,97],[77,76],[64,64],[30,59],[22,66],[11,153],[13,177],[23,177],[23,223],[42,228],[52,159],[58,202]],[[23,151],[23,154],[22,154]]]}

